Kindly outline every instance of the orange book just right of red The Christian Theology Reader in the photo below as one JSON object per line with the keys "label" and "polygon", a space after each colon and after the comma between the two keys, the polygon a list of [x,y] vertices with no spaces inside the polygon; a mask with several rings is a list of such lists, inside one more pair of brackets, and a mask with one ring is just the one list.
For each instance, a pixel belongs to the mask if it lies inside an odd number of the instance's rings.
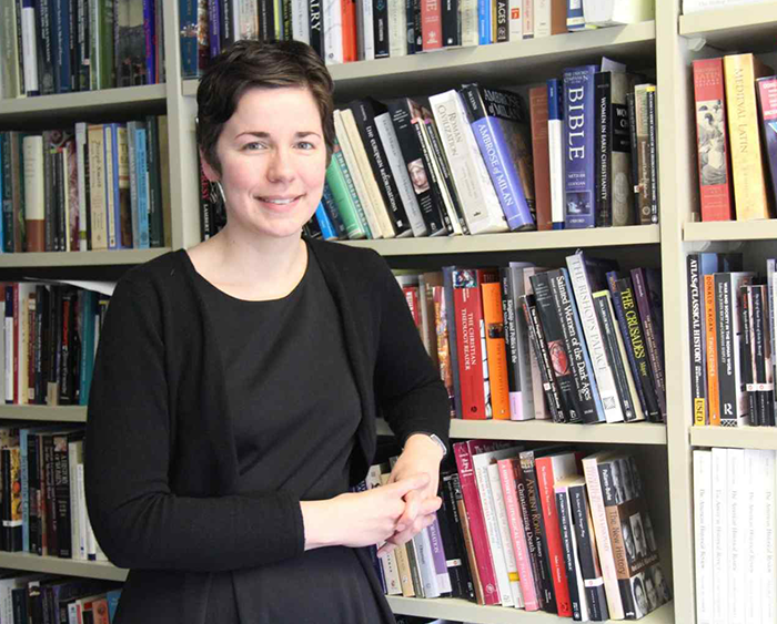
{"label": "orange book just right of red The Christian Theology Reader", "polygon": [[509,386],[507,383],[507,345],[502,316],[502,286],[498,282],[481,284],[483,320],[485,321],[486,355],[491,380],[491,409],[495,420],[509,420]]}

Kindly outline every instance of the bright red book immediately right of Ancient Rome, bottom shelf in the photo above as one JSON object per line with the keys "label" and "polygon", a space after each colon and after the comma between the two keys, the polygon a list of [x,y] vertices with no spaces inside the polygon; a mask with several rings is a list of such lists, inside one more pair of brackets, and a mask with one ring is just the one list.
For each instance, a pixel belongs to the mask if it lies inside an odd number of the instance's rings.
{"label": "bright red book immediately right of Ancient Rome, bottom shelf", "polygon": [[577,461],[574,452],[538,457],[535,460],[537,473],[537,495],[543,508],[545,536],[547,539],[547,559],[551,564],[553,589],[556,593],[556,608],[562,617],[572,617],[572,600],[564,562],[562,530],[558,524],[556,494],[553,485],[559,479],[577,474]]}

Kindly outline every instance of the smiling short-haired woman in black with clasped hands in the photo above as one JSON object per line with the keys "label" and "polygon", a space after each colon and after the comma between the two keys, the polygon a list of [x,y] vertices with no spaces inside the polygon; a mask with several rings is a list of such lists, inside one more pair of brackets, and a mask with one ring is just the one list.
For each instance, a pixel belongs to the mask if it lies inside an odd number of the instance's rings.
{"label": "smiling short-haired woman in black with clasped hands", "polygon": [[[297,42],[240,42],[198,92],[228,224],[117,286],[87,431],[118,623],[393,622],[369,554],[428,525],[447,397],[377,254],[301,238],[334,145],[332,81]],[[366,474],[381,413],[404,444]],[[322,548],[329,546],[329,548]]]}

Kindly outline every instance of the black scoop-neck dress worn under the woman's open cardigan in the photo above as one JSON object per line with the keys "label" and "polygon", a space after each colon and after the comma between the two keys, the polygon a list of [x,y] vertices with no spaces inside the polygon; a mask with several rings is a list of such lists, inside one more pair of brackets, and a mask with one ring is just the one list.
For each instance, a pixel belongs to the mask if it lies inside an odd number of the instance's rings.
{"label": "black scoop-neck dress worn under the woman's open cardigan", "polygon": [[[224,319],[214,329],[234,415],[238,492],[285,489],[322,500],[347,491],[361,405],[315,257],[281,299],[236,299],[199,274],[196,284],[213,317]],[[371,573],[347,548],[223,572],[211,585],[208,622],[387,622]]]}

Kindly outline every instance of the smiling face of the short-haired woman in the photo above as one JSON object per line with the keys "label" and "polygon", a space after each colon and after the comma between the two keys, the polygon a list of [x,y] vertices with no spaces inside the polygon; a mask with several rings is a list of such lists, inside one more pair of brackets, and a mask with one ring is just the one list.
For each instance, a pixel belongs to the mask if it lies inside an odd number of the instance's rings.
{"label": "smiling face of the short-haired woman", "polygon": [[326,144],[321,115],[310,91],[251,89],[219,136],[220,181],[228,227],[261,237],[299,235],[321,201]]}

